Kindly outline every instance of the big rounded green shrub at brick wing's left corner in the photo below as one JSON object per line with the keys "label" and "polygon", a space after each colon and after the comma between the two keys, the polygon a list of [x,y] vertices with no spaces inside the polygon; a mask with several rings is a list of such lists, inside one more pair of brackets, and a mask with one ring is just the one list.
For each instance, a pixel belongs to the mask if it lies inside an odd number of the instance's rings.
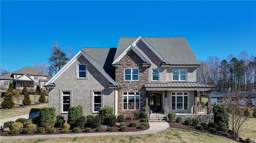
{"label": "big rounded green shrub at brick wing's left corner", "polygon": [[55,123],[55,108],[54,107],[43,107],[39,110],[39,123],[41,127],[45,126],[45,123]]}

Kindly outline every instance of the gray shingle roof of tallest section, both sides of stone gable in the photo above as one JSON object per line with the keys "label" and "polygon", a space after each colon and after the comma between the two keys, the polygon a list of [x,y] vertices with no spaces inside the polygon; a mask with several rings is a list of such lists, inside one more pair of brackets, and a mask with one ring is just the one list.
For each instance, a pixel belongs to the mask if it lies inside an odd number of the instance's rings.
{"label": "gray shingle roof of tallest section, both sides of stone gable", "polygon": [[[185,37],[143,37],[170,65],[199,65]],[[114,61],[138,37],[120,37]]]}

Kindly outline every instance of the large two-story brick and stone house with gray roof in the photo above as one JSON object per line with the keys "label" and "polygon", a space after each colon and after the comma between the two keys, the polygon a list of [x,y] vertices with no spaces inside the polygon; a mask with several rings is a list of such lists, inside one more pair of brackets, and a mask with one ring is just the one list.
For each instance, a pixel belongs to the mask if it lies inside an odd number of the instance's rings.
{"label": "large two-story brick and stone house with gray roof", "polygon": [[[198,114],[197,93],[201,99],[208,91],[210,101],[215,88],[196,82],[198,67],[185,37],[120,37],[117,48],[82,48],[55,74],[45,85],[49,107],[57,114],[76,105],[84,107],[84,115],[104,106],[116,115],[130,110]],[[211,104],[208,108],[211,114]]]}

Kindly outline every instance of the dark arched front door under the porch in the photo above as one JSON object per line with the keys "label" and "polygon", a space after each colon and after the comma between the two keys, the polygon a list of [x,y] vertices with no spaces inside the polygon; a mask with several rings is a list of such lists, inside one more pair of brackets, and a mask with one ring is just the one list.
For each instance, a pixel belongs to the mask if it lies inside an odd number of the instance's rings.
{"label": "dark arched front door under the porch", "polygon": [[153,112],[160,112],[162,110],[161,96],[162,95],[158,93],[149,94],[149,106],[150,110]]}

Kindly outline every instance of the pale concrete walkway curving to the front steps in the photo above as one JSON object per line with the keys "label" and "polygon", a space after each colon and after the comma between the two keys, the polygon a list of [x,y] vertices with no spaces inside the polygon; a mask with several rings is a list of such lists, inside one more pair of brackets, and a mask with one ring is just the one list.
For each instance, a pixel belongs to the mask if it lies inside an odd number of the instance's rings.
{"label": "pale concrete walkway curving to the front steps", "polygon": [[149,122],[150,128],[144,131],[132,132],[107,132],[107,133],[72,133],[72,134],[58,134],[58,135],[21,135],[0,137],[0,140],[6,139],[38,139],[38,138],[56,138],[56,137],[88,137],[88,136],[106,136],[106,135],[142,135],[147,133],[156,133],[163,131],[169,127],[167,122]]}

